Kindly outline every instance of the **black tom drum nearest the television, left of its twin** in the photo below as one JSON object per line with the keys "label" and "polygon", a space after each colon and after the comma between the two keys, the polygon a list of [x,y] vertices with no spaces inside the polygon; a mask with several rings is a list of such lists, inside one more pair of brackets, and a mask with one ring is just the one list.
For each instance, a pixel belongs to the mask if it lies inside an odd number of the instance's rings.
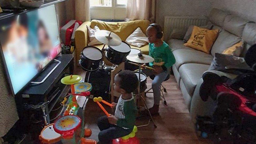
{"label": "black tom drum nearest the television, left of its twin", "polygon": [[79,64],[85,71],[96,71],[99,68],[99,63],[102,61],[102,52],[94,46],[86,46],[80,55]]}

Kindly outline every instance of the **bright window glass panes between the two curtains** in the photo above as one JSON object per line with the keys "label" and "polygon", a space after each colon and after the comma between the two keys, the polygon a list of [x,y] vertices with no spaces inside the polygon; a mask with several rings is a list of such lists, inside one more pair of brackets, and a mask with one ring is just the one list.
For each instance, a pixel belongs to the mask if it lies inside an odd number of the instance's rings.
{"label": "bright window glass panes between the two curtains", "polygon": [[90,0],[90,7],[125,7],[127,0]]}

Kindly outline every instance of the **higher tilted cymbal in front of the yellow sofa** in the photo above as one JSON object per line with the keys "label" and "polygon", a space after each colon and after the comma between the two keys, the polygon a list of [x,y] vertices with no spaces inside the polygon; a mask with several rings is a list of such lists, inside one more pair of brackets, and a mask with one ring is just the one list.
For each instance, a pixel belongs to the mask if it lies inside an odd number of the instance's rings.
{"label": "higher tilted cymbal in front of the yellow sofa", "polygon": [[122,42],[121,38],[117,34],[107,30],[96,31],[95,38],[103,44],[109,46],[119,46]]}

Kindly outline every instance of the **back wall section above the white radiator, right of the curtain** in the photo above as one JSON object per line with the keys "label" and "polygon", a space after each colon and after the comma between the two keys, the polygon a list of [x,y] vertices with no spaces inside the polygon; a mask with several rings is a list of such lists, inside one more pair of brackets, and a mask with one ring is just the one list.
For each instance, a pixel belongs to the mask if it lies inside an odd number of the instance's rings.
{"label": "back wall section above the white radiator, right of the curtain", "polygon": [[163,26],[165,15],[209,15],[214,0],[156,0],[156,22]]}

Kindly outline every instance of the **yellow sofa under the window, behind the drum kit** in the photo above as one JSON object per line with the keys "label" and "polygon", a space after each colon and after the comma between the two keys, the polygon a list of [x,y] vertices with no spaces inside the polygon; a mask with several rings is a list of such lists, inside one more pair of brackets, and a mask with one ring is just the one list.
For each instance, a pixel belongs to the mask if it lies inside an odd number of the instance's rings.
{"label": "yellow sofa under the window, behind the drum kit", "polygon": [[[103,22],[100,20],[92,20],[91,22],[84,22],[80,25],[77,30],[75,31],[75,44],[76,44],[76,60],[80,59],[80,53],[84,47],[88,45],[89,37],[87,32],[87,25],[91,28],[94,28],[95,25],[99,26],[101,30],[109,30],[117,34],[122,41],[125,41],[126,38],[132,34],[132,32],[140,27],[143,33],[146,34],[146,29],[150,22],[148,20],[134,20],[130,22]],[[99,49],[103,48],[103,45],[95,45]],[[143,47],[135,47],[131,46],[131,48],[136,48],[142,51],[143,54],[148,55],[148,45]]]}

